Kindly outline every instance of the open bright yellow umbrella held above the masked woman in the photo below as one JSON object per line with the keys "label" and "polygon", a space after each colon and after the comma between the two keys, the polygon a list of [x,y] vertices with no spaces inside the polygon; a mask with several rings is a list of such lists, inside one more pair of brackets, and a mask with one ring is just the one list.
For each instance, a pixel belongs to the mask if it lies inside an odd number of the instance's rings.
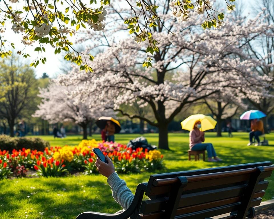
{"label": "open bright yellow umbrella held above the masked woman", "polygon": [[194,123],[199,120],[202,124],[201,131],[206,131],[209,129],[214,129],[217,121],[213,119],[210,115],[204,114],[194,114],[187,117],[184,121],[181,122],[182,129],[191,131],[194,127]]}

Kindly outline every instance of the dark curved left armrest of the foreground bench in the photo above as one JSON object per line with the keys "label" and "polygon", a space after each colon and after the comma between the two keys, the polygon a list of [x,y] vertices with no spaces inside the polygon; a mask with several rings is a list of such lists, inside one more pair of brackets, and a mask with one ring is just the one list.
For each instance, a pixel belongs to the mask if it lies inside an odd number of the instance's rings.
{"label": "dark curved left armrest of the foreground bench", "polygon": [[[144,192],[146,191],[147,183],[140,183],[132,200],[132,203],[124,212],[118,214],[106,214],[99,212],[87,211],[79,214],[76,219],[127,219],[131,216],[136,217],[143,200]],[[133,218],[132,218],[133,219]]]}

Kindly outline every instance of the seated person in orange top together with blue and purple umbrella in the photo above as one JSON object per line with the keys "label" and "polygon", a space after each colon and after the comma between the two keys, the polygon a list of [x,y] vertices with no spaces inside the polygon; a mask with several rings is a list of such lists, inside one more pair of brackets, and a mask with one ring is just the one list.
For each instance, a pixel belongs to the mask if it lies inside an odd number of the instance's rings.
{"label": "seated person in orange top together with blue and purple umbrella", "polygon": [[262,135],[265,131],[263,129],[263,121],[259,120],[260,118],[265,117],[265,113],[259,110],[249,110],[244,112],[240,119],[250,119],[251,120],[251,132],[249,132],[249,143],[247,146],[252,145],[253,137],[255,137],[257,144],[255,146],[261,145],[259,136]]}

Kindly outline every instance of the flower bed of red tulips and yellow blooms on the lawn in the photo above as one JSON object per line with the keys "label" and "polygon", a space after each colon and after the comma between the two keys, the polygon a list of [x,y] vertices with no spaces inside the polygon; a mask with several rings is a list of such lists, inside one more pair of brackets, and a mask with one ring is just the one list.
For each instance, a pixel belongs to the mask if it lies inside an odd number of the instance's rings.
{"label": "flower bed of red tulips and yellow blooms on the lawn", "polygon": [[119,143],[83,140],[78,146],[50,147],[45,151],[23,148],[22,150],[0,150],[0,179],[10,176],[24,177],[28,169],[41,176],[61,176],[67,173],[98,173],[94,165],[96,155],[92,148],[98,147],[114,162],[118,173],[138,173],[163,169],[163,155],[158,150],[142,148],[132,150]]}

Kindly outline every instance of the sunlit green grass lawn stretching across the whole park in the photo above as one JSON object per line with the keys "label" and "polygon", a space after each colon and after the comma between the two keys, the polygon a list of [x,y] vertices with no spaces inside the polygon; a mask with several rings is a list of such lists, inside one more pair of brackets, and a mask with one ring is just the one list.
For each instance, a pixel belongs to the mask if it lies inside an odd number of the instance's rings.
{"label": "sunlit green grass lawn stretching across the whole park", "polygon": [[[170,133],[170,151],[161,150],[166,164],[165,172],[220,167],[259,161],[274,163],[274,134],[266,135],[270,146],[246,146],[248,133],[233,133],[233,138],[215,137],[216,133],[206,133],[206,142],[213,143],[223,162],[209,163],[188,161],[188,134]],[[223,134],[227,136],[227,133]],[[118,134],[115,140],[128,143],[139,134]],[[157,145],[158,134],[145,134],[148,142]],[[53,139],[52,136],[39,136],[52,146],[77,145],[81,136],[68,136],[65,139]],[[100,139],[100,135],[92,138]],[[158,171],[160,173],[163,171]],[[129,188],[135,192],[140,182],[148,181],[152,173],[120,175]],[[274,198],[274,174],[268,178],[269,187],[263,200]],[[84,211],[113,213],[121,207],[112,198],[106,178],[101,175],[69,176],[62,178],[22,178],[0,181],[0,218],[73,219]],[[27,216],[26,216],[27,215]]]}

